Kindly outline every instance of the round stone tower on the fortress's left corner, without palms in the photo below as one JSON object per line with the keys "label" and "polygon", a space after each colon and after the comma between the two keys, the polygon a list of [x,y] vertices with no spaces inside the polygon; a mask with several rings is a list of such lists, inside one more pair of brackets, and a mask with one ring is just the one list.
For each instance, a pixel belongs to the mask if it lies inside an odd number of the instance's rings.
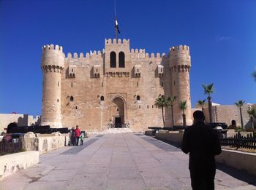
{"label": "round stone tower on the fortress's left corner, without palms", "polygon": [[42,113],[41,125],[62,127],[61,125],[61,73],[64,68],[62,47],[46,45],[42,47]]}

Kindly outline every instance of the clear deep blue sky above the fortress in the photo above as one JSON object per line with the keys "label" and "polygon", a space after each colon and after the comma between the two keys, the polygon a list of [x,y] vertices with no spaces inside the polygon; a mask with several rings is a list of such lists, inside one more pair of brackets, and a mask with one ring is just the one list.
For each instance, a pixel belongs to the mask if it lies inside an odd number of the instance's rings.
{"label": "clear deep blue sky above the fortress", "polygon": [[[211,82],[214,102],[256,103],[255,0],[116,0],[116,7],[119,37],[131,48],[167,53],[189,45],[193,106]],[[40,114],[41,47],[102,50],[113,21],[113,0],[0,0],[0,113]]]}

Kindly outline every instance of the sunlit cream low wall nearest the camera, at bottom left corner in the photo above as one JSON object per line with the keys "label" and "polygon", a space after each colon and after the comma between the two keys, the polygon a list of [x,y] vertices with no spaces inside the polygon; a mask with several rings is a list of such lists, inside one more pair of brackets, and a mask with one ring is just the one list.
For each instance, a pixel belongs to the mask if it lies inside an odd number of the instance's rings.
{"label": "sunlit cream low wall nearest the camera, at bottom left corner", "polygon": [[38,151],[23,151],[15,154],[8,154],[0,157],[0,180],[4,177],[26,169],[39,162]]}

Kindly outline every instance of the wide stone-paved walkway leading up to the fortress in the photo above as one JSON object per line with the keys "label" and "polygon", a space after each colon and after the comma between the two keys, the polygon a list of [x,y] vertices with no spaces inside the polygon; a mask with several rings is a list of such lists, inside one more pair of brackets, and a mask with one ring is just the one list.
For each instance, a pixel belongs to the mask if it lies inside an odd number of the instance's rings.
{"label": "wide stone-paved walkway leading up to the fortress", "polygon": [[[256,177],[218,165],[216,189],[256,189]],[[0,181],[0,189],[191,189],[188,155],[140,133],[96,135]]]}

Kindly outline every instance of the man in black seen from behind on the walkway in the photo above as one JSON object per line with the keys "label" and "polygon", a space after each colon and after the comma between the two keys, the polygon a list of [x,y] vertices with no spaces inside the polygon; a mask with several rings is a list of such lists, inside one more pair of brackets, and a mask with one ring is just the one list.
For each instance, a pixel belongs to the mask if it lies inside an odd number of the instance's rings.
{"label": "man in black seen from behind on the walkway", "polygon": [[205,123],[202,111],[193,114],[194,124],[183,135],[182,151],[189,153],[189,170],[193,190],[214,190],[216,165],[214,155],[220,154],[217,132]]}

